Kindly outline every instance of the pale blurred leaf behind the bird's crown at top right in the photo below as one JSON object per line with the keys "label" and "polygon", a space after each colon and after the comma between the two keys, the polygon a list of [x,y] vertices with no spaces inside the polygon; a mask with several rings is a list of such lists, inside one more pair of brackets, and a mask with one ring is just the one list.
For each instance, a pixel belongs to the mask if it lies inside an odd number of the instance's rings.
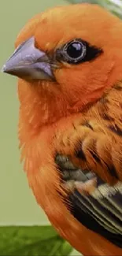
{"label": "pale blurred leaf behind the bird's crown at top right", "polygon": [[68,2],[98,4],[122,19],[122,2],[120,0],[68,0]]}

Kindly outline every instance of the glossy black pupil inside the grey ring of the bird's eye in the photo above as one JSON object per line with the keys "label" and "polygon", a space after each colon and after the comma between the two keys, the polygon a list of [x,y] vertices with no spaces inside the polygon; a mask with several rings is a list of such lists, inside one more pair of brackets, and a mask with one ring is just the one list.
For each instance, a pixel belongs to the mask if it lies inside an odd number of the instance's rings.
{"label": "glossy black pupil inside the grey ring of the bird's eye", "polygon": [[67,54],[70,58],[79,58],[82,54],[82,46],[80,43],[71,43],[67,48]]}

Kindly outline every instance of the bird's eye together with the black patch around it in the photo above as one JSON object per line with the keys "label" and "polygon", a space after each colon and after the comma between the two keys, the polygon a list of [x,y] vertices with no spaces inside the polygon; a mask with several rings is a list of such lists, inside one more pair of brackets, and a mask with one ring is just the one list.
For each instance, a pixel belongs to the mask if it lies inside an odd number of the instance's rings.
{"label": "bird's eye together with the black patch around it", "polygon": [[70,64],[78,64],[80,62],[91,61],[102,53],[102,49],[91,46],[86,41],[74,39],[60,49],[56,50],[55,57],[57,61],[65,61]]}

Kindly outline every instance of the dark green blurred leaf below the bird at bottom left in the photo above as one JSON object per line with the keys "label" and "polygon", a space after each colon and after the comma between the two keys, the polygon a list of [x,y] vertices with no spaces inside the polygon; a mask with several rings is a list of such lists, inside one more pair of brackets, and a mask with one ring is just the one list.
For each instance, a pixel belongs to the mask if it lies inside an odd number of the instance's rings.
{"label": "dark green blurred leaf below the bird at bottom left", "polygon": [[0,255],[67,256],[71,252],[52,226],[0,227]]}

